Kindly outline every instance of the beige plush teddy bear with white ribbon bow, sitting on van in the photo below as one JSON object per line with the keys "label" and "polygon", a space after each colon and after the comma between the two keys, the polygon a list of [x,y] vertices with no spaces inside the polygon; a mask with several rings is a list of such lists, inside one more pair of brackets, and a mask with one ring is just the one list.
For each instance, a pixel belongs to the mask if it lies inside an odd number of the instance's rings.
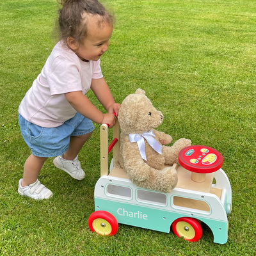
{"label": "beige plush teddy bear with white ribbon bow, sitting on van", "polygon": [[132,183],[141,188],[170,192],[177,185],[179,151],[191,145],[180,138],[172,146],[172,137],[155,128],[163,122],[163,114],[152,105],[145,91],[136,90],[122,102],[118,111],[120,150],[115,166],[124,168]]}

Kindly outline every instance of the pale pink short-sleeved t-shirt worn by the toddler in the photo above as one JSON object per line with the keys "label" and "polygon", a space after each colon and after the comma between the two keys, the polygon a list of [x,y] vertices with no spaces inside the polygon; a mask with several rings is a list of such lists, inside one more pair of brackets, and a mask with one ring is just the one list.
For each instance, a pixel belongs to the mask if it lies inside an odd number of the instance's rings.
{"label": "pale pink short-sleeved t-shirt worn by the toddler", "polygon": [[41,73],[20,102],[19,113],[42,127],[57,127],[76,115],[64,93],[90,90],[92,79],[102,78],[100,60],[82,61],[58,42]]}

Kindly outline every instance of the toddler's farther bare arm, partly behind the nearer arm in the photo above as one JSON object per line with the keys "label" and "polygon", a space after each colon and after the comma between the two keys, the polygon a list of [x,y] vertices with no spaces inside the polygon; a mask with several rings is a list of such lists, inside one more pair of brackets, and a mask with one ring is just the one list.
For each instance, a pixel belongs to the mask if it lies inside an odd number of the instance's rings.
{"label": "toddler's farther bare arm, partly behind the nearer arm", "polygon": [[92,79],[91,89],[106,111],[108,113],[115,112],[117,116],[120,104],[115,102],[104,77]]}

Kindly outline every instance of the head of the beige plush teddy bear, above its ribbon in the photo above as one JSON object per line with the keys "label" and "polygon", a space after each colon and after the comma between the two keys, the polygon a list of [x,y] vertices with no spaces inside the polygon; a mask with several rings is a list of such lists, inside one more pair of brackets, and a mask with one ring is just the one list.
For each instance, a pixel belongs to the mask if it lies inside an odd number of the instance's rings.
{"label": "head of the beige plush teddy bear, above its ribbon", "polygon": [[125,134],[142,134],[161,125],[163,114],[154,108],[145,91],[139,88],[123,100],[118,122]]}

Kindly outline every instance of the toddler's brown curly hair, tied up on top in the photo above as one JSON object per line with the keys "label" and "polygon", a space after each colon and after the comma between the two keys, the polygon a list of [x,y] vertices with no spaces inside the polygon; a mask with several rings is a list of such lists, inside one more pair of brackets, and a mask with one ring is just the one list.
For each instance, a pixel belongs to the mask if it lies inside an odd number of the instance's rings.
{"label": "toddler's brown curly hair, tied up on top", "polygon": [[79,44],[87,35],[86,17],[99,15],[99,23],[113,24],[114,18],[97,0],[58,0],[63,7],[58,11],[58,27],[60,39],[67,43],[68,36],[72,36]]}

